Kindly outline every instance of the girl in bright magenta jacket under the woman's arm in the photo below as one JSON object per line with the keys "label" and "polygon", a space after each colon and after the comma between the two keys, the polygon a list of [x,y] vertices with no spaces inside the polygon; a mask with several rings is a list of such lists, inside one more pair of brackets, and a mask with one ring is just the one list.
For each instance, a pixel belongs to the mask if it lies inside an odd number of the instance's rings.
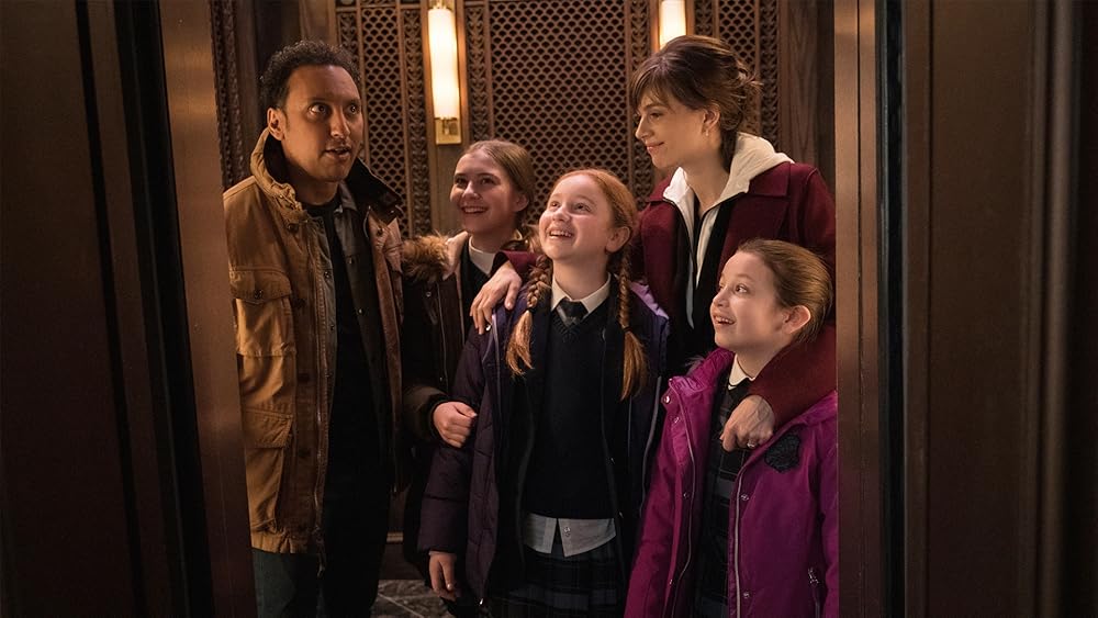
{"label": "girl in bright magenta jacket under the woman's arm", "polygon": [[763,447],[725,450],[750,381],[813,340],[831,297],[824,262],[796,245],[749,240],[725,263],[718,348],[663,397],[626,616],[838,616],[836,393]]}

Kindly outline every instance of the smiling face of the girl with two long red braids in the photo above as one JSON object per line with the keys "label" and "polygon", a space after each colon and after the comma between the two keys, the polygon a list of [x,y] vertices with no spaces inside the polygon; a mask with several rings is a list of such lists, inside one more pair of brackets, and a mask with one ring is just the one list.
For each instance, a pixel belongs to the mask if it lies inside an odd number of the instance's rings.
{"label": "smiling face of the girl with two long red braids", "polygon": [[628,228],[614,226],[614,212],[598,184],[582,173],[557,182],[538,232],[542,251],[559,263],[605,262],[629,239]]}

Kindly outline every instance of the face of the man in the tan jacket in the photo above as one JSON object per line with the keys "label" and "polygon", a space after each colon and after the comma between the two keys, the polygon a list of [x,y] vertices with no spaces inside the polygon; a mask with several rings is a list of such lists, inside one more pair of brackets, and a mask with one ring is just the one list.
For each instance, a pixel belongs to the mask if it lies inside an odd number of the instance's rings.
{"label": "face of the man in the tan jacket", "polygon": [[267,124],[282,143],[298,199],[330,200],[362,147],[362,101],[350,75],[336,66],[294,69],[285,103],[267,110]]}

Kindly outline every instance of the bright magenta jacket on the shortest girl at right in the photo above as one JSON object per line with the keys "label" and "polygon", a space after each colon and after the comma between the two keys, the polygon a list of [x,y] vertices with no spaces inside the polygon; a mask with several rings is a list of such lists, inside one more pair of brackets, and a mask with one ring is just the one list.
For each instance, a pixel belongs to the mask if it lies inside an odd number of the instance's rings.
{"label": "bright magenta jacket on the shortest girl at right", "polygon": [[[663,397],[666,420],[645,503],[626,616],[687,616],[704,503],[717,349]],[[728,521],[732,617],[839,615],[838,395],[782,427],[744,462]]]}

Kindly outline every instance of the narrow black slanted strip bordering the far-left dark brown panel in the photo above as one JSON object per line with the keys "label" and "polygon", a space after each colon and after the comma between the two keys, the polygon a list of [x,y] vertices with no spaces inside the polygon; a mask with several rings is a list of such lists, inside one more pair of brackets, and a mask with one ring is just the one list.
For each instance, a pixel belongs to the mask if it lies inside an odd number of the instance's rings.
{"label": "narrow black slanted strip bordering the far-left dark brown panel", "polygon": [[[110,308],[116,315],[119,361],[116,371],[124,404],[128,436],[128,470],[132,475],[133,510],[141,530],[135,540],[139,547],[141,595],[149,614],[178,613],[186,607],[182,572],[178,563],[165,560],[165,553],[179,555],[179,537],[169,527],[178,508],[173,468],[170,457],[159,448],[169,443],[170,431],[164,408],[158,406],[158,375],[156,363],[149,361],[154,352],[147,339],[146,297],[135,293],[148,288],[141,265],[141,240],[134,225],[127,122],[120,72],[115,10],[110,2],[88,3],[89,33],[93,80],[96,85],[99,126],[99,151],[103,166],[103,216],[109,237],[111,284],[114,290],[130,291],[114,294]],[[150,413],[152,412],[152,413]]]}

